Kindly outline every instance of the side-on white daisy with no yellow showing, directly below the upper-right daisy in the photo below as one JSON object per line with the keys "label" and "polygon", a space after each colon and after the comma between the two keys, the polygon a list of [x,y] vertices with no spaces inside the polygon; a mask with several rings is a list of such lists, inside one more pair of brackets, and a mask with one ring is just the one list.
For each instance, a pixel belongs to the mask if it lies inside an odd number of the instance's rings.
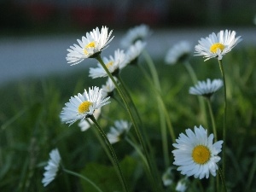
{"label": "side-on white daisy with no yellow showing, directly below the upper-right daisy", "polygon": [[198,81],[194,87],[189,88],[189,94],[197,96],[211,97],[213,93],[219,90],[223,86],[223,80],[221,79],[207,79],[207,81]]}

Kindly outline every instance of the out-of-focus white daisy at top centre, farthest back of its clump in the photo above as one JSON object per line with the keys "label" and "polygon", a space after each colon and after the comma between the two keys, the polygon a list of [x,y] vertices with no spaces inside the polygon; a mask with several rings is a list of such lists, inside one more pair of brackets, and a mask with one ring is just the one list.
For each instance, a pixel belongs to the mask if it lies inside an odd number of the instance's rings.
{"label": "out-of-focus white daisy at top centre, farthest back of its clump", "polygon": [[126,34],[125,37],[122,38],[121,40],[121,46],[124,48],[128,48],[137,40],[142,40],[144,41],[148,36],[151,34],[149,27],[147,25],[140,25],[140,26],[135,26],[131,28]]}

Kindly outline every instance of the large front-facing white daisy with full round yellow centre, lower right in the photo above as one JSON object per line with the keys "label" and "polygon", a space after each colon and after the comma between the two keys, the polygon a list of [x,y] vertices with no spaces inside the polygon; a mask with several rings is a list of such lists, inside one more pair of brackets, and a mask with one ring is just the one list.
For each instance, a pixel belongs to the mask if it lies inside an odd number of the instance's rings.
{"label": "large front-facing white daisy with full round yellow centre, lower right", "polygon": [[177,148],[172,151],[174,155],[173,164],[178,166],[177,171],[186,176],[195,178],[216,176],[218,170],[217,163],[220,157],[217,155],[221,152],[223,141],[212,143],[213,134],[207,136],[207,130],[201,125],[195,126],[193,132],[191,129],[186,130],[186,134],[179,134],[177,143],[173,147]]}

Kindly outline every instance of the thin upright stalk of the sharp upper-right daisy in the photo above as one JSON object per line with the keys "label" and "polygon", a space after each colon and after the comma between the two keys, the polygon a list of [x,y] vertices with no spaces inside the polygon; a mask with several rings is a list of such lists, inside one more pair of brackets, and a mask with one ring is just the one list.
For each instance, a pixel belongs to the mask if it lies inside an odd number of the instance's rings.
{"label": "thin upright stalk of the sharp upper-right daisy", "polygon": [[218,60],[220,72],[223,78],[223,83],[224,83],[224,120],[223,120],[223,157],[222,157],[222,162],[223,162],[223,174],[225,174],[225,150],[226,150],[226,118],[227,118],[227,90],[226,90],[226,81],[225,81],[225,73],[224,73],[224,68],[222,64],[222,60]]}

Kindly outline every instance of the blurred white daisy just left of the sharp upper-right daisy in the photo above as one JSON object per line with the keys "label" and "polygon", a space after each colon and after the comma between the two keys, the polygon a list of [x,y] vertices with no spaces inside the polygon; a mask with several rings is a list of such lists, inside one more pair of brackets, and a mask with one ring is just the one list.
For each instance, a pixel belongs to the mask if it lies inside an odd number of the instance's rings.
{"label": "blurred white daisy just left of the sharp upper-right daisy", "polygon": [[187,41],[181,41],[172,46],[166,54],[166,63],[174,65],[179,61],[185,61],[191,53],[191,44]]}

